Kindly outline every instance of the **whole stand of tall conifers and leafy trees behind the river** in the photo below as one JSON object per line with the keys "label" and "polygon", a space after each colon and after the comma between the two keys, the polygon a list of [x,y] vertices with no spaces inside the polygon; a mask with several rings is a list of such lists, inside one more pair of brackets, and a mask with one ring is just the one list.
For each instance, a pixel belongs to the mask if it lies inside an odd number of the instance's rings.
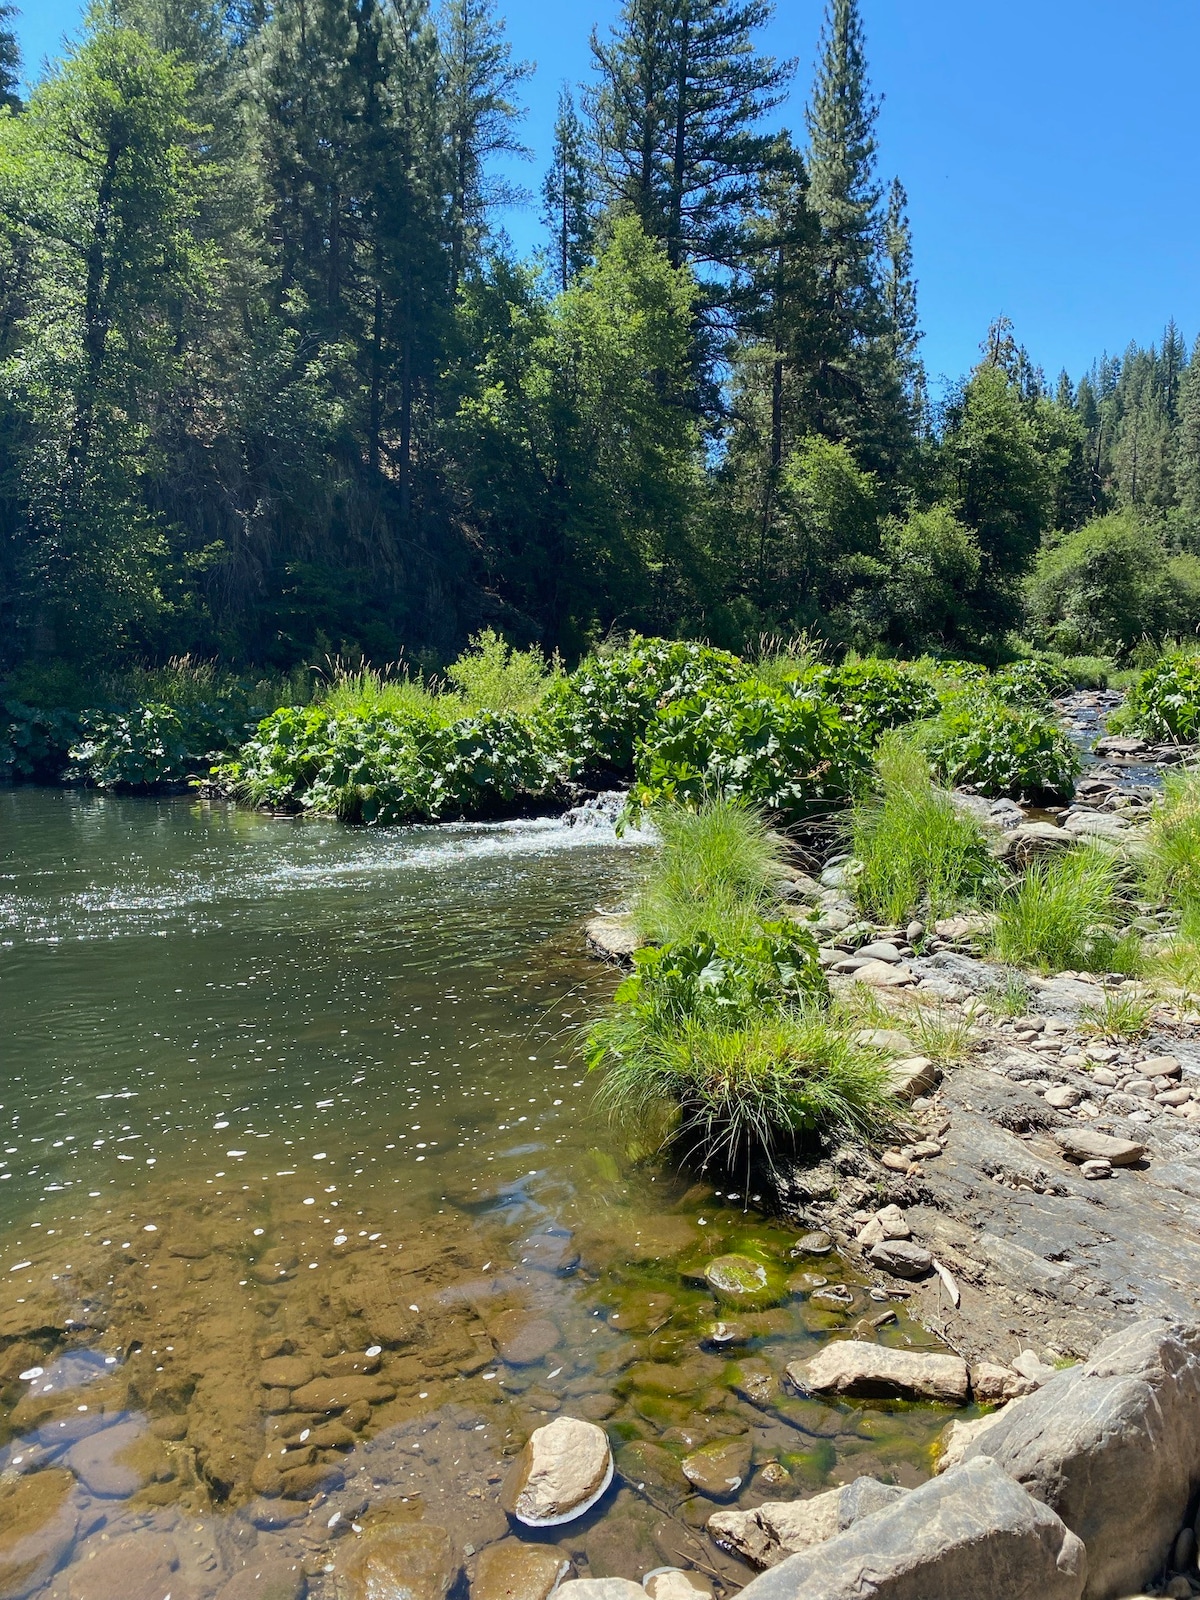
{"label": "whole stand of tall conifers and leafy trees behind the river", "polygon": [[1192,632],[1197,354],[933,405],[858,3],[798,128],[768,16],[626,0],[518,259],[493,0],[106,0],[24,99],[0,6],[0,672]]}

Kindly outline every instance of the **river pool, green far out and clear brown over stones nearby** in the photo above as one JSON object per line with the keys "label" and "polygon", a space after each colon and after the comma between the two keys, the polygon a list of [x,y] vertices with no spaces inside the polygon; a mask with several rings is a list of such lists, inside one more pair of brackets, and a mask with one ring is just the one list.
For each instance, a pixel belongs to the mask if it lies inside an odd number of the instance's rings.
{"label": "river pool, green far out and clear brown over stones nearby", "polygon": [[[165,1562],[208,1600],[267,1555],[331,1595],[381,1504],[470,1571],[558,1411],[618,1450],[597,1510],[541,1536],[592,1576],[749,1576],[680,1470],[712,1440],[749,1446],[747,1506],[928,1474],[944,1411],[779,1384],[883,1307],[822,1296],[834,1258],[632,1163],[592,1109],[573,1037],[614,976],[581,922],[640,848],[0,792],[0,1595],[131,1600]],[[784,1302],[718,1307],[726,1250],[790,1274]],[[883,1338],[930,1342],[893,1309]]]}

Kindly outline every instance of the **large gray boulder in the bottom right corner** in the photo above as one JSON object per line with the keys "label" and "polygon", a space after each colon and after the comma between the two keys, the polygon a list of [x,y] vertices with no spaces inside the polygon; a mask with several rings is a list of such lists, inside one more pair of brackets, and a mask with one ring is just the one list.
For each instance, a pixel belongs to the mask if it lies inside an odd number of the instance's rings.
{"label": "large gray boulder in the bottom right corner", "polygon": [[[1200,1486],[1200,1326],[1146,1318],[1013,1400],[965,1453],[997,1461],[1088,1547],[1086,1600],[1139,1589]],[[949,1477],[949,1474],[947,1474]]]}

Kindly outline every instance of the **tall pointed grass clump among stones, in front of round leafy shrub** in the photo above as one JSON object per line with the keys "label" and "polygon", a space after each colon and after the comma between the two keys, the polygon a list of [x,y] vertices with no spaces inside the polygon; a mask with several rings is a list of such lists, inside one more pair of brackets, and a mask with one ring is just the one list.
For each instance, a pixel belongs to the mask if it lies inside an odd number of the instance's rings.
{"label": "tall pointed grass clump among stones, in front of round leafy shrub", "polygon": [[925,755],[902,734],[883,738],[877,765],[878,792],[850,819],[862,910],[902,925],[976,901],[997,875],[979,824],[934,787]]}

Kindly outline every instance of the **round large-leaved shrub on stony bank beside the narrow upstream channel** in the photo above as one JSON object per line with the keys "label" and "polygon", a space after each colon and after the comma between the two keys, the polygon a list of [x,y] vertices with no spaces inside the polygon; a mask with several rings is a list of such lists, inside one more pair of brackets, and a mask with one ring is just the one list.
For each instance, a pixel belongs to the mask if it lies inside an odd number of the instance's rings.
{"label": "round large-leaved shrub on stony bank beside the narrow upstream channel", "polygon": [[1078,752],[1050,717],[971,690],[950,696],[920,741],[944,784],[984,795],[1069,795],[1080,770]]}

